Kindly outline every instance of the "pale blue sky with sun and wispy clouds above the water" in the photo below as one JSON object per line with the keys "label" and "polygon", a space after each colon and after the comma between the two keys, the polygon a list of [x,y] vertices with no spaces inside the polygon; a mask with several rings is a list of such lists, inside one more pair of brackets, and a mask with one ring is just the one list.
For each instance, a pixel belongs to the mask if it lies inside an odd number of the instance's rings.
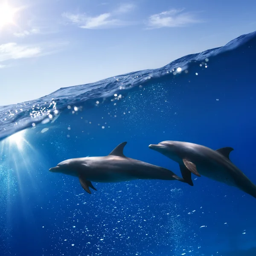
{"label": "pale blue sky with sun and wispy clouds above the water", "polygon": [[255,13],[255,0],[0,0],[0,105],[222,46]]}

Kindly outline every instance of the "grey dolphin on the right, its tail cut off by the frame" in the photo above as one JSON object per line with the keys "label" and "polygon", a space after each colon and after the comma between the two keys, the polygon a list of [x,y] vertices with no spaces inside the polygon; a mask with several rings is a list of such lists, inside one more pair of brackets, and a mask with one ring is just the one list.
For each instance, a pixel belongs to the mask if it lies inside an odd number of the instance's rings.
{"label": "grey dolphin on the right, its tail cut off by the frame", "polygon": [[229,155],[233,148],[213,150],[203,145],[171,140],[148,147],[179,163],[182,177],[191,186],[191,173],[204,175],[235,186],[256,198],[256,186],[230,161]]}

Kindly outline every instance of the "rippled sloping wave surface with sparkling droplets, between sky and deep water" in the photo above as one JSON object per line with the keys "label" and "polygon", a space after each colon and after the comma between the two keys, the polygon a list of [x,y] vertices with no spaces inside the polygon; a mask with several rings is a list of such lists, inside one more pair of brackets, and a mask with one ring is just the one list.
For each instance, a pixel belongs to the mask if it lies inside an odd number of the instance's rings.
{"label": "rippled sloping wave surface with sparkling droplets, between sky and deep water", "polygon": [[215,61],[216,56],[255,46],[256,32],[252,32],[239,36],[223,47],[186,55],[158,69],[137,71],[91,84],[60,88],[29,102],[0,106],[0,140],[25,128],[52,123],[61,112],[73,109],[76,105],[83,109],[92,108],[118,98],[119,95],[123,97],[141,86],[159,83],[163,77],[172,80],[177,76],[186,76],[193,67],[198,67],[198,64],[202,63],[205,67],[208,61]]}

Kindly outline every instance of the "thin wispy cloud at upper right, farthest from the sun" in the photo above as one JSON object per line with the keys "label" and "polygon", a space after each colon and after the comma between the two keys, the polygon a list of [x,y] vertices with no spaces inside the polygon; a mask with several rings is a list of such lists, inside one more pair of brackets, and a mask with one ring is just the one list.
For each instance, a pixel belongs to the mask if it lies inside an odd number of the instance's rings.
{"label": "thin wispy cloud at upper right, farthest from the sun", "polygon": [[172,9],[170,11],[151,15],[147,22],[148,28],[159,29],[162,27],[180,27],[201,22],[201,20],[198,20],[192,12],[183,11],[184,9]]}

